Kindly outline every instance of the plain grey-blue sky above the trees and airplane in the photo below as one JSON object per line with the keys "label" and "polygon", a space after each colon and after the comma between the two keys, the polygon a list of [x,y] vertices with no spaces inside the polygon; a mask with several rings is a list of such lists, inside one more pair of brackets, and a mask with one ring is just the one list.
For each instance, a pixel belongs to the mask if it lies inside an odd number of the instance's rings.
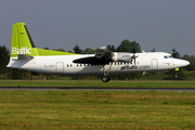
{"label": "plain grey-blue sky above the trees and airplane", "polygon": [[122,40],[150,52],[195,55],[195,0],[2,0],[0,46],[23,22],[37,48],[96,49]]}

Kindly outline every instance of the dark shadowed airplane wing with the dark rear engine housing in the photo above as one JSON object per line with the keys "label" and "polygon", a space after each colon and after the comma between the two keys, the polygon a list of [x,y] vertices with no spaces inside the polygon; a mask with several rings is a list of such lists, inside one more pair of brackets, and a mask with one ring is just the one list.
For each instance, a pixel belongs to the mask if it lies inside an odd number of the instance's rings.
{"label": "dark shadowed airplane wing with the dark rear engine housing", "polygon": [[114,53],[109,49],[101,47],[96,49],[94,56],[81,57],[74,60],[73,62],[79,64],[105,65],[113,61],[113,55]]}

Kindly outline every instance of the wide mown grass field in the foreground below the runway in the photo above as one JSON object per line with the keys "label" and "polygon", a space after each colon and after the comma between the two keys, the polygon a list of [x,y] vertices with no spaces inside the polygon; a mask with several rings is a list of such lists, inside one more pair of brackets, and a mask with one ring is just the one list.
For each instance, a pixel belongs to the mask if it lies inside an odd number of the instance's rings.
{"label": "wide mown grass field in the foreground below the runway", "polygon": [[0,91],[0,129],[195,129],[195,93]]}

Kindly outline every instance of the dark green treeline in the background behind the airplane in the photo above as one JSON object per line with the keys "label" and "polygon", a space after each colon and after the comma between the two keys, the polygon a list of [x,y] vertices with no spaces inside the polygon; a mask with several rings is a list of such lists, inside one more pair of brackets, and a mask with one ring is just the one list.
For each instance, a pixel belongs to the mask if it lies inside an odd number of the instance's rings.
{"label": "dark green treeline in the background behind the airplane", "polygon": [[[118,47],[113,44],[108,44],[107,48],[114,52],[141,52],[141,46],[136,41],[129,41],[122,40]],[[44,48],[48,49],[48,48]],[[64,49],[53,49],[55,51],[65,51]],[[153,48],[151,50],[155,52]],[[73,51],[68,51],[72,53],[79,53],[79,54],[94,54],[95,49],[87,48],[81,50],[78,44],[73,48]],[[181,56],[180,53],[172,49],[172,56],[177,58],[183,58],[188,61],[191,64],[182,69],[180,69],[179,79],[195,79],[195,56],[194,55],[183,55]],[[0,79],[72,79],[72,80],[82,80],[82,79],[101,79],[102,75],[90,75],[90,76],[55,76],[55,75],[46,75],[39,73],[31,73],[26,70],[20,70],[14,68],[8,68],[6,65],[10,60],[10,51],[5,46],[0,46]],[[109,75],[112,80],[133,80],[133,79],[173,79],[174,70],[168,70],[162,73],[146,73],[145,75],[142,74],[116,74]]]}

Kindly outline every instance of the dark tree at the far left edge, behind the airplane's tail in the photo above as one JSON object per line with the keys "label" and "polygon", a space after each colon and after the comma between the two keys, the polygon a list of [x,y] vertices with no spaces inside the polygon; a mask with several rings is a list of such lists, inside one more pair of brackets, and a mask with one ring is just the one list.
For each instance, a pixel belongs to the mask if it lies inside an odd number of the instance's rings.
{"label": "dark tree at the far left edge, behind the airplane's tail", "polygon": [[0,74],[4,75],[8,73],[6,65],[9,63],[10,51],[6,49],[5,46],[0,46]]}

